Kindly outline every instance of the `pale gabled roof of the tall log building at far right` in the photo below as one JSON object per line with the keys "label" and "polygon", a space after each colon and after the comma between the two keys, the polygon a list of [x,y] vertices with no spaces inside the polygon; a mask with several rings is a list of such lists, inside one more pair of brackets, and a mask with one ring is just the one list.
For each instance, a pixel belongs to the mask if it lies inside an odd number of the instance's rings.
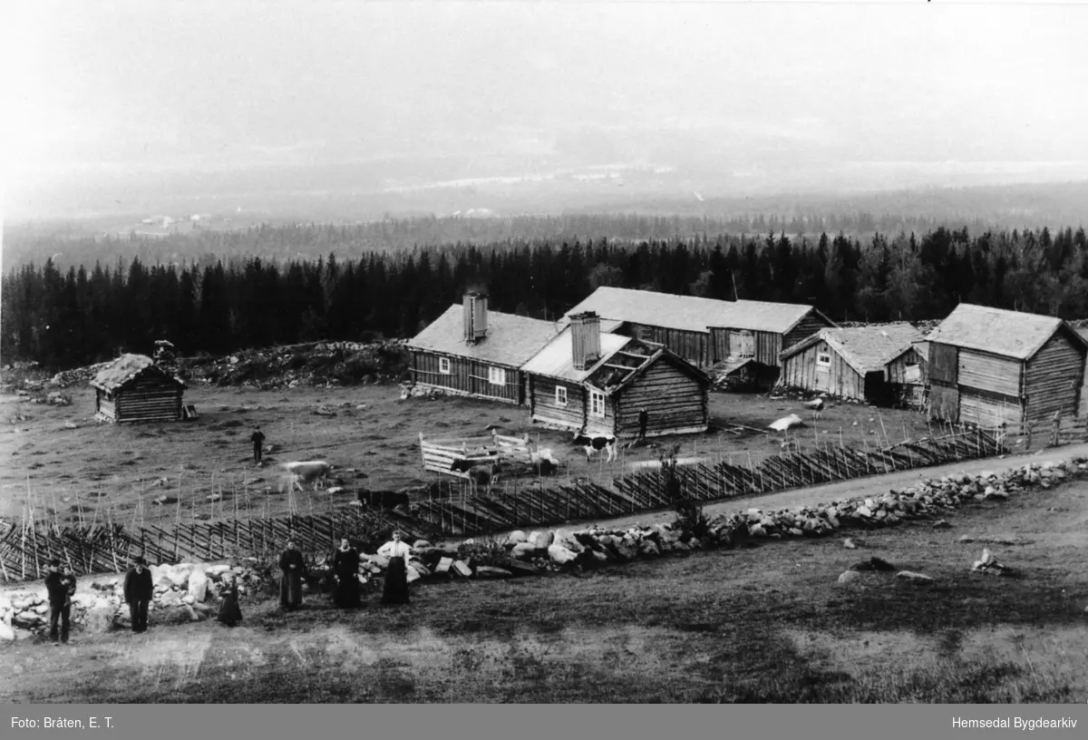
{"label": "pale gabled roof of the tall log building at far right", "polygon": [[1054,332],[1063,329],[1081,345],[1088,346],[1088,340],[1052,316],[960,304],[926,340],[1027,360],[1042,348]]}

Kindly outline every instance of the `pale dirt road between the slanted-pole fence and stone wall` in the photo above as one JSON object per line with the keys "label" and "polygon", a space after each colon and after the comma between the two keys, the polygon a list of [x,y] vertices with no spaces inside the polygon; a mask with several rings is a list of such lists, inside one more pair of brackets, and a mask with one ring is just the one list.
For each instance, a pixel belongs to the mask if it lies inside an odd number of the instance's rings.
{"label": "pale dirt road between the slanted-pole fence and stone wall", "polygon": [[[728,514],[730,511],[741,511],[749,508],[762,508],[766,510],[783,508],[802,508],[815,506],[817,504],[853,498],[855,496],[867,496],[885,493],[890,489],[905,489],[918,481],[929,478],[940,478],[949,473],[979,473],[984,471],[1000,472],[1010,468],[1027,465],[1029,461],[1064,460],[1076,455],[1088,456],[1088,444],[1067,445],[1053,449],[1040,451],[1025,455],[1005,455],[1003,457],[989,457],[981,460],[964,460],[962,462],[950,462],[931,468],[918,468],[916,470],[903,470],[900,472],[886,473],[881,476],[869,476],[868,478],[855,478],[836,483],[825,483],[804,489],[793,489],[781,493],[767,493],[757,496],[738,496],[728,501],[707,504],[704,511],[708,516],[716,514]],[[644,511],[633,514],[629,517],[618,517],[615,519],[586,519],[584,521],[571,522],[568,527],[606,527],[622,528],[635,523],[656,525],[671,521],[676,515],[669,509],[657,511]]]}

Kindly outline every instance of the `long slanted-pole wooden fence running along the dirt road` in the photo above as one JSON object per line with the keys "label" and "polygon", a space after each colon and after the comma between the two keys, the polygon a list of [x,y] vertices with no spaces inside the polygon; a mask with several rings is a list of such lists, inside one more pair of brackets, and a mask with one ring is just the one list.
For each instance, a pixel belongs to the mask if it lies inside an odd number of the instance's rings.
{"label": "long slanted-pole wooden fence running along the dirt road", "polygon": [[[733,455],[716,462],[678,466],[676,470],[685,496],[710,502],[1088,442],[1088,423],[1084,420],[1058,425],[1035,423],[1015,430],[941,429],[943,434],[882,447],[816,445],[803,453],[783,452],[759,460],[747,454]],[[551,479],[548,483],[540,478],[526,483],[511,478],[500,489],[480,489],[468,481],[447,479],[429,491],[428,499],[415,502],[409,514],[344,506],[322,516],[314,515],[311,505],[308,516],[221,516],[217,521],[178,520],[168,527],[137,527],[134,520],[128,529],[113,522],[62,528],[33,518],[22,527],[0,521],[0,577],[15,581],[41,578],[53,557],[69,563],[77,574],[116,572],[137,554],[159,563],[260,557],[282,550],[288,538],[304,552],[323,553],[333,550],[341,536],[358,536],[393,526],[408,538],[471,536],[619,517],[675,503],[659,470],[627,473],[609,485],[588,478],[565,482]]]}

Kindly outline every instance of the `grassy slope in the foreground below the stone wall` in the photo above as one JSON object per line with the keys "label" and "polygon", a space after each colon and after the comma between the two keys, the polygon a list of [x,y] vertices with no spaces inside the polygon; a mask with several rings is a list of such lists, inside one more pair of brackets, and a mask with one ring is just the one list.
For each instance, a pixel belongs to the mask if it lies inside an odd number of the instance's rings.
{"label": "grassy slope in the foreground below the stone wall", "polygon": [[[356,613],[312,596],[245,621],[3,649],[5,702],[1088,700],[1088,485],[915,522],[512,581],[426,584]],[[990,545],[1019,576],[969,572]],[[844,569],[878,555],[931,584]]]}

